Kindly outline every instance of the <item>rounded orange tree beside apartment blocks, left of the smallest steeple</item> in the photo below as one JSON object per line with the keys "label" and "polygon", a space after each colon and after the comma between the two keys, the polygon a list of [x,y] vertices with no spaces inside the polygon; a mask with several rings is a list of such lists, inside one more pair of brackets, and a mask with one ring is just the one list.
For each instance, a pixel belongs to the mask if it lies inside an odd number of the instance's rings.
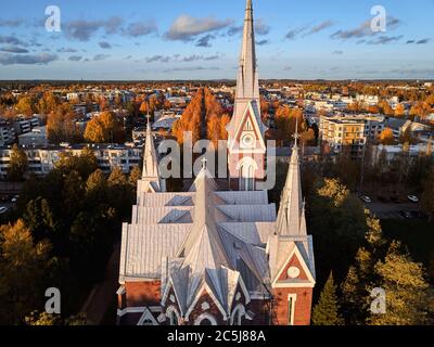
{"label": "rounded orange tree beside apartment blocks, left of the smallest steeple", "polygon": [[119,143],[125,140],[125,129],[114,113],[103,112],[88,123],[85,139],[91,143]]}

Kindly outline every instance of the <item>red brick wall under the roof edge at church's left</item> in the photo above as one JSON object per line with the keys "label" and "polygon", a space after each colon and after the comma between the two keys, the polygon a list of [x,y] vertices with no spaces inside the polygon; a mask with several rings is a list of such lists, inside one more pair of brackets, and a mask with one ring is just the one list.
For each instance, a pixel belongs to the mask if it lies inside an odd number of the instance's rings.
{"label": "red brick wall under the roof edge at church's left", "polygon": [[159,305],[161,281],[127,282],[127,307]]}

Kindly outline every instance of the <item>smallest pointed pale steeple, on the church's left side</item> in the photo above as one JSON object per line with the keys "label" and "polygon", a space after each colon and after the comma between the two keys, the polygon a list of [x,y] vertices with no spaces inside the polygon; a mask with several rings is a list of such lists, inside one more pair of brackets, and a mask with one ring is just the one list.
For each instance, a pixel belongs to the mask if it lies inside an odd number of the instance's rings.
{"label": "smallest pointed pale steeple, on the church's left side", "polygon": [[146,191],[158,192],[158,191],[165,191],[166,184],[165,181],[159,178],[158,162],[156,158],[154,137],[152,136],[151,131],[150,117],[151,116],[148,114],[141,188],[145,192]]}

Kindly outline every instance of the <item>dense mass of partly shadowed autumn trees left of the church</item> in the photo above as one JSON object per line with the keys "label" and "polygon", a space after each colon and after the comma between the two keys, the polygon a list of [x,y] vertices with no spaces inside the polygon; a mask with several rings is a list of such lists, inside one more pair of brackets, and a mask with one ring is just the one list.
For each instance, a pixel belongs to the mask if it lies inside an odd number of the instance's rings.
{"label": "dense mass of partly shadowed autumn trees left of the church", "polygon": [[106,177],[85,150],[63,155],[46,178],[26,181],[20,219],[0,229],[0,323],[49,320],[33,314],[43,309],[48,287],[62,293],[62,319],[78,311],[130,218],[139,177],[139,169],[126,177],[119,168]]}

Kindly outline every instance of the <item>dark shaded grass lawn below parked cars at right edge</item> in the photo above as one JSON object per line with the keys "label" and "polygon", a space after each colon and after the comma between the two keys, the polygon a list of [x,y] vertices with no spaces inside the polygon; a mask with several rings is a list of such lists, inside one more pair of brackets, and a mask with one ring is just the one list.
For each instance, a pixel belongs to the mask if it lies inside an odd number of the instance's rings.
{"label": "dark shaded grass lawn below parked cars at right edge", "polygon": [[429,265],[434,254],[434,223],[419,219],[383,219],[384,235],[399,240],[406,245],[416,261]]}

